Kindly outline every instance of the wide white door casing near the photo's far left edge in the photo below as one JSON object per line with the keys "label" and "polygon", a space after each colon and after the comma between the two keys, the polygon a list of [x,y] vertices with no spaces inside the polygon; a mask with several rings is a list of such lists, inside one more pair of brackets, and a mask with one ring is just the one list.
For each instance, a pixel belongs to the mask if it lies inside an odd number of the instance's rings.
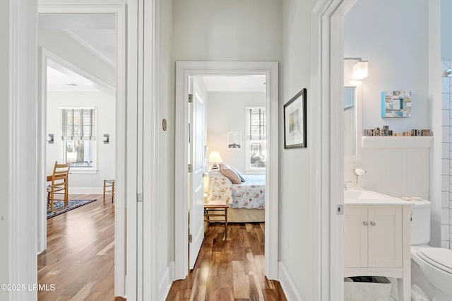
{"label": "wide white door casing near the photo's far left edge", "polygon": [[[8,190],[0,223],[2,233],[8,233],[1,248],[8,266],[1,277],[6,283],[37,283],[37,4],[9,0],[7,5],[8,166],[2,180]],[[11,301],[37,299],[37,292],[26,290],[0,294]]]}

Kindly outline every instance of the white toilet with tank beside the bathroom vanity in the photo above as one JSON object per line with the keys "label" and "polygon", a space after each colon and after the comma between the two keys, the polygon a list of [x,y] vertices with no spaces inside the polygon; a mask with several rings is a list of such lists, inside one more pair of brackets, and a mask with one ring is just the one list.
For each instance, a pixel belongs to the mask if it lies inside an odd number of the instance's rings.
{"label": "white toilet with tank beside the bathroom vanity", "polygon": [[412,201],[411,300],[452,300],[452,250],[430,247],[429,201]]}

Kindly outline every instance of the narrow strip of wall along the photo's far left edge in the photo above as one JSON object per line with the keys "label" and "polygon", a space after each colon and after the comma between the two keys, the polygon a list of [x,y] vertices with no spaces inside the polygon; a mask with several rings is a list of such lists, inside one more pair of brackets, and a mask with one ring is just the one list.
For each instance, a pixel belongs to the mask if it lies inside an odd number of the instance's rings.
{"label": "narrow strip of wall along the photo's far left edge", "polygon": [[[8,117],[8,1],[0,1],[0,137],[2,141],[9,140],[9,117]],[[8,143],[0,145],[0,237],[3,242],[0,244],[0,283],[8,283],[8,169],[9,164]],[[0,292],[0,300],[8,300],[8,292]]]}

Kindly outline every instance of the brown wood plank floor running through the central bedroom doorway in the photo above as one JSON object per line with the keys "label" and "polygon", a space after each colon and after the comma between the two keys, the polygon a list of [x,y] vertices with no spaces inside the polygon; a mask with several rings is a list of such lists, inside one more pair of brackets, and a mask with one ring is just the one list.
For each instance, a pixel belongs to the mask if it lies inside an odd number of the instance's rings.
{"label": "brown wood plank floor running through the central bedroom doorway", "polygon": [[172,284],[167,301],[287,300],[278,281],[264,276],[264,224],[206,223],[193,271]]}

